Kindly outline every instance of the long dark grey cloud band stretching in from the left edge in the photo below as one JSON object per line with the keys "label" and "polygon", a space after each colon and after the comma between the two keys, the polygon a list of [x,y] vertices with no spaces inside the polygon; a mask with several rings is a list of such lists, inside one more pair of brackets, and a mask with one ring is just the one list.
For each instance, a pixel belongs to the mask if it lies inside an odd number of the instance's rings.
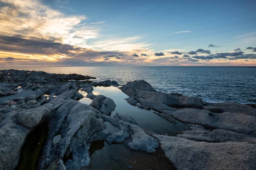
{"label": "long dark grey cloud band stretching in from the left edge", "polygon": [[[118,51],[97,51],[91,48],[81,48],[73,45],[53,42],[36,37],[0,36],[0,50],[19,51],[26,54],[66,54],[68,57],[76,58],[100,58],[103,55],[119,54]],[[73,51],[73,52],[72,52]]]}

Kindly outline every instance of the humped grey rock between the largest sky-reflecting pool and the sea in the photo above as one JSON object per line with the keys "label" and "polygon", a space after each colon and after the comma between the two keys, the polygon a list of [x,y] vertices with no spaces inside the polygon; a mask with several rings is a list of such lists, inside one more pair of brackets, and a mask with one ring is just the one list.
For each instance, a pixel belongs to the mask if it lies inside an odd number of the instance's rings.
{"label": "humped grey rock between the largest sky-reflecting pool and the sea", "polygon": [[[128,82],[120,89],[130,96],[128,100],[140,103],[139,107],[143,109],[153,109],[159,113],[175,111],[175,108],[202,108],[203,104],[197,97],[173,96],[167,93],[157,92],[151,85],[144,80]],[[171,118],[170,118],[171,119]]]}

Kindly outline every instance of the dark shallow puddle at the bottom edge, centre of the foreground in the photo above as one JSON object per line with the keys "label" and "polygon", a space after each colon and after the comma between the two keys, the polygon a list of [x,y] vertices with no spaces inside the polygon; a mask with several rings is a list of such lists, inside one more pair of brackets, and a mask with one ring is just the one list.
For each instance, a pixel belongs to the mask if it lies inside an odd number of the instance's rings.
{"label": "dark shallow puddle at the bottom edge, centre of the foreground", "polygon": [[93,142],[90,170],[175,170],[162,150],[156,153],[130,150],[125,144]]}

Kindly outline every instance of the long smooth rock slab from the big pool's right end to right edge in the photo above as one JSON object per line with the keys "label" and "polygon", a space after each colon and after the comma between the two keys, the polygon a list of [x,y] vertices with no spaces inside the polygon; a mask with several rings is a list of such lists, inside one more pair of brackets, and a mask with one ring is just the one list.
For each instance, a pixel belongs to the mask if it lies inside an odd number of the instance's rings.
{"label": "long smooth rock slab from the big pool's right end to right edge", "polygon": [[226,129],[256,136],[256,117],[238,113],[211,113],[192,108],[178,109],[173,117],[189,124],[202,125],[210,129]]}

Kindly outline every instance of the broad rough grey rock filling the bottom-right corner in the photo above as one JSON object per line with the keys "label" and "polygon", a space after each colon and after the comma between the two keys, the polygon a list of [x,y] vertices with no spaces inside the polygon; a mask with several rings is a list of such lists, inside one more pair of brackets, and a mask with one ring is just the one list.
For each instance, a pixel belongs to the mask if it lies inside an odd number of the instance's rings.
{"label": "broad rough grey rock filling the bottom-right corner", "polygon": [[254,170],[256,144],[208,143],[154,134],[166,157],[179,170]]}

